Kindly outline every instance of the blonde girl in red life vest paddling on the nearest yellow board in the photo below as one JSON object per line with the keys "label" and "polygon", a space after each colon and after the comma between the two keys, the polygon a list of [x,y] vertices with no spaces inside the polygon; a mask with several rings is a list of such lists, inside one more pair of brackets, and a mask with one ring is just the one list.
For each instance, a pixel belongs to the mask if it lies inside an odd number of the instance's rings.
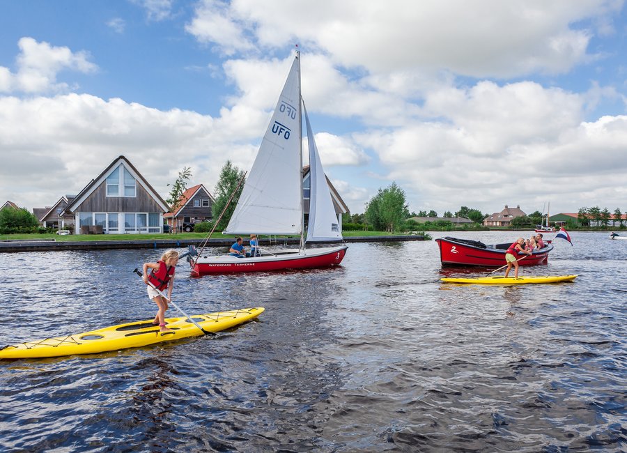
{"label": "blonde girl in red life vest paddling on the nearest yellow board", "polygon": [[[165,312],[168,309],[168,301],[172,298],[172,288],[174,286],[172,277],[174,277],[174,272],[176,271],[176,263],[178,263],[178,252],[176,250],[168,250],[162,254],[161,259],[157,263],[144,263],[144,283],[148,285],[148,297],[154,300],[157,307],[159,307],[153,324],[158,324],[161,332],[172,332],[165,325]],[[148,274],[149,268],[152,269],[150,275]],[[167,289],[168,298],[164,298],[155,291],[155,288],[148,284],[149,282],[161,292]]]}

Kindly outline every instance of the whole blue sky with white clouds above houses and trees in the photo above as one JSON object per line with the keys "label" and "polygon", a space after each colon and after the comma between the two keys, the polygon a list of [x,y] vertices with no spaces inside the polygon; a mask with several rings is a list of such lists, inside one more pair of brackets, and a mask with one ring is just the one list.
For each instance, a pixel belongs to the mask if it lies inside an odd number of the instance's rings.
{"label": "whole blue sky with white clouds above houses and trees", "polygon": [[0,203],[119,155],[166,199],[248,170],[295,54],[352,213],[627,211],[623,0],[0,0]]}

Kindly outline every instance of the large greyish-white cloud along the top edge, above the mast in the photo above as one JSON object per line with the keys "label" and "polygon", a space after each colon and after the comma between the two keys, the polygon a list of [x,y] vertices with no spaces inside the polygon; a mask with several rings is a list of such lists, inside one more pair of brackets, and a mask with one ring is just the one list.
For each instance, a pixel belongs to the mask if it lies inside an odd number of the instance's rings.
{"label": "large greyish-white cloud along the top edge, above the mast", "polygon": [[[571,24],[596,18],[603,33],[621,3],[610,0],[391,0],[284,2],[203,1],[188,27],[226,52],[300,43],[322,49],[335,64],[372,74],[449,70],[472,77],[564,73],[587,61],[593,31]],[[245,31],[246,30],[246,31]],[[244,38],[246,36],[246,38]]]}

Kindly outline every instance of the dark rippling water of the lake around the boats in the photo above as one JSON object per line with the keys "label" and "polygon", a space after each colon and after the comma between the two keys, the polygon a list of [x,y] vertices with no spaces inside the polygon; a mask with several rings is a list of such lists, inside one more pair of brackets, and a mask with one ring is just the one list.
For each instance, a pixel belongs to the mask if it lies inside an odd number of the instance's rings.
{"label": "dark rippling water of the lake around the boats", "polygon": [[[0,362],[0,450],[625,451],[627,241],[571,237],[521,268],[580,275],[564,284],[440,284],[463,270],[433,241],[351,244],[333,270],[181,264],[187,312],[266,311],[216,337]],[[160,252],[0,254],[0,344],[152,317],[132,270]]]}

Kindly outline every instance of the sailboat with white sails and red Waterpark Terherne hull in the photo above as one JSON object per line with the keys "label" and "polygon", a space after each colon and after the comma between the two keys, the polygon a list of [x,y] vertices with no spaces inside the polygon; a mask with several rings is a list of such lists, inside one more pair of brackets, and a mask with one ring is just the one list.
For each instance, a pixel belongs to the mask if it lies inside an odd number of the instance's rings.
{"label": "sailboat with white sails and red Waterpark Terherne hull", "polygon": [[[304,237],[302,115],[309,148],[309,222]],[[283,91],[263,136],[225,234],[299,236],[298,249],[270,251],[238,258],[201,254],[190,260],[192,274],[255,272],[338,266],[346,245],[306,248],[307,242],[342,240],[331,192],[311,131],[300,86],[300,52],[296,52]]]}

